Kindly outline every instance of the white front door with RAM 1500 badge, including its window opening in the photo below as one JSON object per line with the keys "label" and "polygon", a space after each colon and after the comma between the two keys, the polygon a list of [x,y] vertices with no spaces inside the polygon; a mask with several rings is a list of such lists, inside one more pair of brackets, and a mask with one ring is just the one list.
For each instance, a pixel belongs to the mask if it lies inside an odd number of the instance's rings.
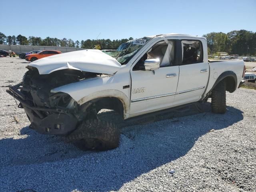
{"label": "white front door with RAM 1500 badge, including its window opening", "polygon": [[[175,44],[174,40],[154,44],[131,68],[131,116],[172,106],[179,78],[179,66],[176,65],[174,55]],[[155,71],[140,70],[138,66],[141,62],[151,58],[160,58],[160,68]]]}

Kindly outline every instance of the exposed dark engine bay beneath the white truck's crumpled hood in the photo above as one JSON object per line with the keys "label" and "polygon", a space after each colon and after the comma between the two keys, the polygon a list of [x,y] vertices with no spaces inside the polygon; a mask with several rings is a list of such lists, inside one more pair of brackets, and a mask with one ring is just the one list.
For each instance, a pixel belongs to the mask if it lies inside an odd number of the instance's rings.
{"label": "exposed dark engine bay beneath the white truck's crumpled hood", "polygon": [[[24,75],[20,91],[26,95],[27,100],[33,102],[34,106],[46,108],[72,108],[72,104],[70,104],[72,98],[64,93],[51,93],[52,88],[101,75],[70,69],[40,75],[36,68],[32,66],[27,66],[27,68],[29,71]],[[70,105],[68,106],[68,104]]]}

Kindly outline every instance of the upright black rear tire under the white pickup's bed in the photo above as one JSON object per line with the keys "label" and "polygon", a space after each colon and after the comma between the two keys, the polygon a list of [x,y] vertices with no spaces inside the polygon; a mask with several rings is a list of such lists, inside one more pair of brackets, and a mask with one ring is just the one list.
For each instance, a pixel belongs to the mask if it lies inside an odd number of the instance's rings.
{"label": "upright black rear tire under the white pickup's bed", "polygon": [[220,82],[212,90],[212,112],[225,113],[226,112],[226,82]]}

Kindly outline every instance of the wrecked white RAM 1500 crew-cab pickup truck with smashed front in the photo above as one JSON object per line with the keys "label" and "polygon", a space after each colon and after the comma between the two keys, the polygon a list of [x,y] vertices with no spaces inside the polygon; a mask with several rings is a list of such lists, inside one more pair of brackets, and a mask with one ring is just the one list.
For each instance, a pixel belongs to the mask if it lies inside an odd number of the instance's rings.
{"label": "wrecked white RAM 1500 crew-cab pickup truck with smashed front", "polygon": [[211,98],[212,112],[226,112],[226,91],[244,84],[243,60],[210,61],[206,38],[146,36],[116,51],[80,50],[42,58],[7,92],[24,108],[30,128],[65,135],[89,148],[112,149],[118,128],[99,120],[101,109],[124,119]]}

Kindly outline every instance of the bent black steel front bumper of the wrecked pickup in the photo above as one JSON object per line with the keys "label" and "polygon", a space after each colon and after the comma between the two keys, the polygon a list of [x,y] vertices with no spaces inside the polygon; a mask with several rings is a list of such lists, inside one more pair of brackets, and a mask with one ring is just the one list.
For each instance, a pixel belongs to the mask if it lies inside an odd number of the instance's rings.
{"label": "bent black steel front bumper of the wrecked pickup", "polygon": [[[20,102],[19,108],[24,108],[30,128],[41,134],[65,135],[76,129],[78,120],[73,115],[73,110],[68,108],[42,108],[32,106],[26,101],[26,96],[20,92],[17,86],[9,86],[6,90],[11,96]],[[45,116],[43,112],[48,112]]]}

